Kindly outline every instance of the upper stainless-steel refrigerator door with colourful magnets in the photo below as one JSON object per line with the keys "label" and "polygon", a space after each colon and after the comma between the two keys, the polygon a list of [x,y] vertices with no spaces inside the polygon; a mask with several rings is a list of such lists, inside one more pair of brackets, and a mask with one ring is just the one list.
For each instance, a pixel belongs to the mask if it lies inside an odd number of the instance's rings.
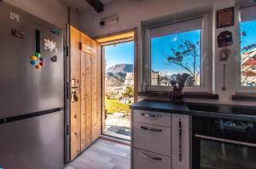
{"label": "upper stainless-steel refrigerator door with colourful magnets", "polygon": [[[0,22],[0,119],[63,107],[61,29],[3,2]],[[36,43],[36,30],[40,44]],[[36,44],[44,58],[41,69],[30,63]],[[56,48],[50,51],[54,45]],[[39,64],[39,59],[36,62]]]}

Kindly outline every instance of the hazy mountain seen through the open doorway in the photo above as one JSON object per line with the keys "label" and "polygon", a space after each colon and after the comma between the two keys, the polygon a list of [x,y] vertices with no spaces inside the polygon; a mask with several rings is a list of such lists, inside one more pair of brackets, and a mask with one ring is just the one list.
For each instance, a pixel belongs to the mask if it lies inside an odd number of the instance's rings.
{"label": "hazy mountain seen through the open doorway", "polygon": [[108,68],[106,74],[106,85],[109,87],[121,87],[125,83],[127,73],[133,72],[133,65],[119,64]]}

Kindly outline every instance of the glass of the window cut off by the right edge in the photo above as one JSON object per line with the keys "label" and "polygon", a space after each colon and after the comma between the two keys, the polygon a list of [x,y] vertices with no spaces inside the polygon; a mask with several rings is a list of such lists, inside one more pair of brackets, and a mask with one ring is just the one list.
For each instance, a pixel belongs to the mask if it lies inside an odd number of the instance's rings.
{"label": "glass of the window cut off by the right edge", "polygon": [[256,6],[241,8],[240,86],[256,87]]}

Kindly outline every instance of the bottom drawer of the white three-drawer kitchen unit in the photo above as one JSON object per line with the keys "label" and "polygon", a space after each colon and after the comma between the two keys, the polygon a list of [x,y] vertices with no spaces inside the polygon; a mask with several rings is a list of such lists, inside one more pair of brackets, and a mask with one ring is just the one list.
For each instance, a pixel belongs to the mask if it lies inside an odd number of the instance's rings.
{"label": "bottom drawer of the white three-drawer kitchen unit", "polygon": [[170,169],[171,157],[133,149],[133,169]]}

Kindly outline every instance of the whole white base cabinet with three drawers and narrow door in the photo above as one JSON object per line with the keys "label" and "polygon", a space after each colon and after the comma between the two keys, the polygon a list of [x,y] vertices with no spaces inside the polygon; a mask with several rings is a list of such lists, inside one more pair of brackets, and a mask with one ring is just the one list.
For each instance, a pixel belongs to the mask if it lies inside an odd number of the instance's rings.
{"label": "whole white base cabinet with three drawers and narrow door", "polygon": [[191,169],[190,116],[133,110],[133,169]]}

